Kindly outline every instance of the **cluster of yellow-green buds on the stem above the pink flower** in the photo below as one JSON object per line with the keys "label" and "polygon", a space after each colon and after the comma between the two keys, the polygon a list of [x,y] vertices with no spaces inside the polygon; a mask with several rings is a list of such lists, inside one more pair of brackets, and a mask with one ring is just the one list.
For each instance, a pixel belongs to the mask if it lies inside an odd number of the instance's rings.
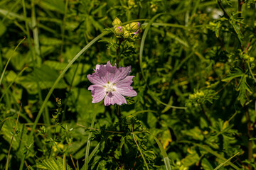
{"label": "cluster of yellow-green buds on the stem above the pink flower", "polygon": [[117,38],[131,38],[132,35],[137,36],[139,33],[139,22],[132,22],[126,26],[122,26],[122,22],[116,17],[114,18],[112,25],[114,26],[114,34]]}

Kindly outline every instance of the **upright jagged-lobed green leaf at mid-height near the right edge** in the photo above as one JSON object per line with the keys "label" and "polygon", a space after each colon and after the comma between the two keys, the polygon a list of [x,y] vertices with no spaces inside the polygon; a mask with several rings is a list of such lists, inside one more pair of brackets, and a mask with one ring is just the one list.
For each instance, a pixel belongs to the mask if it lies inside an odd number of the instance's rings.
{"label": "upright jagged-lobed green leaf at mid-height near the right edge", "polygon": [[239,91],[238,100],[240,101],[241,105],[244,106],[245,102],[249,99],[247,96],[247,93],[249,92],[252,94],[252,91],[250,90],[250,86],[247,84],[246,81],[247,75],[243,75],[240,79],[240,82],[238,84],[237,91]]}

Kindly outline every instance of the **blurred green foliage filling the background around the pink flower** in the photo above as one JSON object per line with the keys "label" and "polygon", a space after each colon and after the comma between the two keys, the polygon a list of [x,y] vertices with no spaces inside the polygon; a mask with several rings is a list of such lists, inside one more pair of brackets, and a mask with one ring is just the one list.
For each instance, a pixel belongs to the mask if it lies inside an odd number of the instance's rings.
{"label": "blurred green foliage filling the background around the pink flower", "polygon": [[[1,81],[0,169],[7,155],[9,169],[24,160],[23,169],[86,169],[88,140],[96,148],[88,169],[165,169],[154,137],[172,169],[256,169],[255,16],[254,0],[1,0],[0,69],[11,60]],[[112,33],[54,84],[115,17],[141,23],[120,63],[132,65],[138,94],[121,107],[122,122],[87,90],[95,65],[115,62]]]}

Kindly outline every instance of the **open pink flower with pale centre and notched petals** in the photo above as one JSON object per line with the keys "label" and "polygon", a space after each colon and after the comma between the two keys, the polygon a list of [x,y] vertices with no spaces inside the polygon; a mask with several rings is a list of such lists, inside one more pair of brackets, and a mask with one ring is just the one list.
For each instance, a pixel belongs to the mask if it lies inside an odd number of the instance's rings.
{"label": "open pink flower with pale centre and notched petals", "polygon": [[98,103],[105,98],[105,106],[114,105],[114,103],[122,105],[122,103],[127,104],[124,96],[137,96],[136,91],[131,86],[134,77],[129,76],[131,66],[117,69],[116,65],[112,66],[110,61],[105,65],[97,64],[95,73],[87,75],[87,78],[93,84],[88,88],[92,91],[92,103]]}

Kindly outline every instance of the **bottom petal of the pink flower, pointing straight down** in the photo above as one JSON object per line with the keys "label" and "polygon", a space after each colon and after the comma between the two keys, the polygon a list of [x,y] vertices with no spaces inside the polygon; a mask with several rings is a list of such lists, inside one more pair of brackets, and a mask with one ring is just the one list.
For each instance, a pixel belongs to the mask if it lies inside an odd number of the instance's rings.
{"label": "bottom petal of the pink flower, pointing straight down", "polygon": [[109,106],[114,105],[115,103],[122,105],[122,103],[127,104],[127,101],[125,100],[124,96],[119,94],[117,91],[112,91],[105,97],[104,104],[105,106]]}

